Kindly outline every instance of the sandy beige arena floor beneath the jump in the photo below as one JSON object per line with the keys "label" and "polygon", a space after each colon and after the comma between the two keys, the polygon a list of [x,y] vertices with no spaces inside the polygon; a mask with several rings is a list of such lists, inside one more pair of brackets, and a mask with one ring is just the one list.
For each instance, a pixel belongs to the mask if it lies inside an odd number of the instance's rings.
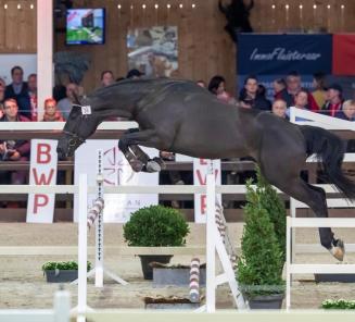
{"label": "sandy beige arena floor beneath the jump", "polygon": [[[205,226],[191,224],[188,246],[203,246],[205,242]],[[53,293],[58,284],[46,282],[41,265],[50,260],[76,260],[75,255],[50,256],[10,256],[3,255],[9,246],[77,246],[77,225],[73,223],[55,224],[0,224],[0,309],[9,308],[51,308]],[[355,243],[354,230],[338,230],[347,243]],[[121,224],[105,224],[105,267],[126,280],[129,284],[118,285],[110,278],[104,281],[103,288],[96,288],[92,280],[88,284],[88,305],[92,308],[144,308],[143,298],[149,296],[188,296],[187,287],[153,287],[152,282],[142,277],[140,260],[136,256],[119,256],[117,247],[125,246]],[[242,224],[229,224],[231,240],[240,245]],[[93,245],[94,232],[89,233],[89,245]],[[299,230],[297,243],[318,243],[317,231],[313,228]],[[204,261],[204,256],[200,256]],[[93,255],[89,260],[94,262]],[[190,256],[174,256],[172,262],[189,264]],[[302,263],[334,263],[328,252],[321,255],[297,255],[297,262]],[[355,253],[347,253],[346,263],[355,263]],[[297,275],[292,286],[292,308],[316,309],[325,299],[355,299],[355,283],[319,283],[316,284],[312,275]],[[77,302],[77,286],[66,284],[72,294],[73,306]],[[204,288],[202,288],[204,294]],[[216,293],[217,309],[233,308],[232,298],[227,285],[220,286]]]}

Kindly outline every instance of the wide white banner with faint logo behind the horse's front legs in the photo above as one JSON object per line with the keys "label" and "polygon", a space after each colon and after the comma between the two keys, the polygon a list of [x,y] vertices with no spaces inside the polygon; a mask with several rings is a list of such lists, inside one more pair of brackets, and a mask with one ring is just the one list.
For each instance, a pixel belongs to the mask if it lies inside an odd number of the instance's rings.
{"label": "wide white banner with faint logo behind the horse's front legs", "polygon": [[[96,185],[98,169],[98,150],[103,152],[103,176],[104,185],[136,186],[136,185],[159,185],[159,173],[136,173],[131,170],[128,161],[117,147],[117,140],[88,140],[80,146],[75,153],[75,183],[79,175],[88,175],[88,184]],[[150,157],[156,157],[157,150],[142,148]],[[88,196],[88,205],[92,205],[96,195]],[[157,194],[149,195],[117,195],[104,194],[105,207],[103,211],[104,222],[125,223],[130,214],[142,207],[157,205]],[[74,199],[74,221],[78,220],[78,196]]]}

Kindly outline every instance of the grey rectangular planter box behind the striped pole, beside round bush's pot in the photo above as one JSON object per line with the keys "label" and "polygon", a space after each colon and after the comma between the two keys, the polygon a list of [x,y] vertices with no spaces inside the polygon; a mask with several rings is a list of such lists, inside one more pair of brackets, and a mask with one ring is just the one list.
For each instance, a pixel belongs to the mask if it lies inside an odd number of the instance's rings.
{"label": "grey rectangular planter box behind the striped pole, beside round bush's pot", "polygon": [[[190,268],[153,268],[153,285],[189,286]],[[200,269],[200,286],[206,285],[206,269]]]}

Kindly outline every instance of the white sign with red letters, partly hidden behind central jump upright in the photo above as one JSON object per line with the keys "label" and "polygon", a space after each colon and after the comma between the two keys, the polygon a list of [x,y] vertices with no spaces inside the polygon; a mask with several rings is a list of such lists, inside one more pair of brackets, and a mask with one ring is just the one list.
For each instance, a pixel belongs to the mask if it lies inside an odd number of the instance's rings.
{"label": "white sign with red letters, partly hidden behind central jump upright", "polygon": [[[220,160],[213,160],[213,170],[215,173],[216,185],[220,185]],[[206,185],[207,173],[211,166],[211,160],[193,159],[193,184],[195,186]],[[220,195],[217,195],[220,203]],[[206,223],[207,199],[206,195],[194,194],[194,222]]]}

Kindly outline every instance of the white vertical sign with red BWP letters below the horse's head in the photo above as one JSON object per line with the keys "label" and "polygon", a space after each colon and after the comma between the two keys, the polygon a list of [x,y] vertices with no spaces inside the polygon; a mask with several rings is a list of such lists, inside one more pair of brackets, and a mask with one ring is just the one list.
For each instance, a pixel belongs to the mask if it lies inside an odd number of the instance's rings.
{"label": "white vertical sign with red BWP letters below the horse's head", "polygon": [[[56,140],[33,139],[30,141],[30,185],[56,184]],[[27,202],[28,223],[52,223],[54,194],[29,194]]]}

